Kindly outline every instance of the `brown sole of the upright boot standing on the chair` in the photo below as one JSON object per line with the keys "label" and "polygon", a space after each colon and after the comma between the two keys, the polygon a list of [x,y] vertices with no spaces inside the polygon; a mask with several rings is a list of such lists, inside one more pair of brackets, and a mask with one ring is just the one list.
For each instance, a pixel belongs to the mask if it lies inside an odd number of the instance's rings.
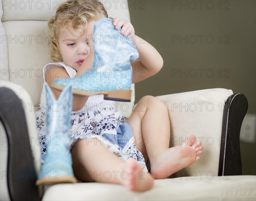
{"label": "brown sole of the upright boot standing on the chair", "polygon": [[52,184],[63,184],[63,183],[76,183],[77,180],[75,177],[72,176],[61,176],[58,178],[52,177],[44,177],[41,179],[38,179],[35,182],[35,185],[39,186],[39,185],[52,185]]}

